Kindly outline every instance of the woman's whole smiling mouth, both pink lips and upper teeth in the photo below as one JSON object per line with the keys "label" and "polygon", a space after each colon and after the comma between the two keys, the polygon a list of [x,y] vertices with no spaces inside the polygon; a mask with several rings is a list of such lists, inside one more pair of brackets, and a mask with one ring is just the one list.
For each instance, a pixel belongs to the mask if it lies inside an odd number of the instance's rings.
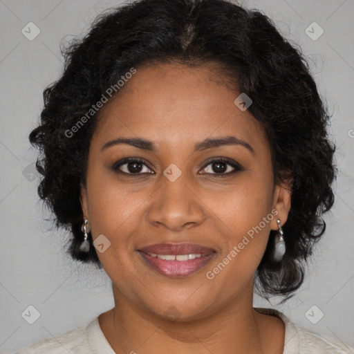
{"label": "woman's whole smiling mouth, both pink lips and upper teeth", "polygon": [[138,250],[145,265],[167,277],[187,277],[215,256],[215,250],[192,243],[160,243]]}

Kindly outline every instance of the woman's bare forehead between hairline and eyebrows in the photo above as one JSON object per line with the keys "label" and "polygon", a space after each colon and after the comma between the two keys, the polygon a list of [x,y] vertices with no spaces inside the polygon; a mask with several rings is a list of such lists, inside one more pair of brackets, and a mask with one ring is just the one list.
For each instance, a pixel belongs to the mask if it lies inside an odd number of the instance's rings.
{"label": "woman's bare forehead between hairline and eyebrows", "polygon": [[[230,79],[230,78],[229,78]],[[143,136],[158,149],[236,136],[255,149],[267,144],[261,123],[234,104],[240,92],[215,66],[160,64],[136,68],[100,112],[96,140]],[[230,80],[228,80],[230,81]],[[257,147],[258,146],[258,147]]]}

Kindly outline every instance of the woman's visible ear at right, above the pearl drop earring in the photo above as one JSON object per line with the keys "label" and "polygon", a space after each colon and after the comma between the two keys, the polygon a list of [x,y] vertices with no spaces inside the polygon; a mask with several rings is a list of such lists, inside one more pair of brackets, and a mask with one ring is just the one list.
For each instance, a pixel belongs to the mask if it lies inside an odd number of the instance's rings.
{"label": "woman's visible ear at right, above the pearl drop earring", "polygon": [[281,185],[275,185],[274,187],[272,209],[276,209],[278,214],[270,222],[272,230],[279,229],[277,219],[280,220],[281,225],[284,225],[288,220],[291,207],[292,182],[293,180],[289,179]]}

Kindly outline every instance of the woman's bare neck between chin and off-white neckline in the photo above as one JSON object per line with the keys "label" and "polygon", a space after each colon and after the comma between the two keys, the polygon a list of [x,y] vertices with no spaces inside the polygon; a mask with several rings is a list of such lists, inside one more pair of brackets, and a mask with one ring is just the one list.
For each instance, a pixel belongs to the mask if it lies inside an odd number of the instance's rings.
{"label": "woman's bare neck between chin and off-white neckline", "polygon": [[[268,353],[270,330],[252,307],[252,293],[192,321],[170,321],[133,304],[113,286],[115,307],[99,322],[115,353]],[[275,319],[275,318],[274,318]],[[276,319],[275,319],[276,320]],[[272,324],[276,324],[274,321]],[[279,322],[278,322],[279,325]],[[268,332],[268,333],[267,333]],[[267,333],[265,335],[265,333]],[[277,344],[279,348],[279,342]],[[278,352],[282,353],[281,348]]]}

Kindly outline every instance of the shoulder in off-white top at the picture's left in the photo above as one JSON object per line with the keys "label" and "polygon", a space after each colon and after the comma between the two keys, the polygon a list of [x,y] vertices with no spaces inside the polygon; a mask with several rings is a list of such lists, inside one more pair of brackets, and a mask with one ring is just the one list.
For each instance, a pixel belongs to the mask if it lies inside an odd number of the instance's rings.
{"label": "shoulder in off-white top at the picture's left", "polygon": [[91,349],[87,334],[95,320],[88,325],[68,330],[68,332],[62,335],[49,337],[30,344],[25,348],[21,348],[16,354],[89,354],[91,353]]}

